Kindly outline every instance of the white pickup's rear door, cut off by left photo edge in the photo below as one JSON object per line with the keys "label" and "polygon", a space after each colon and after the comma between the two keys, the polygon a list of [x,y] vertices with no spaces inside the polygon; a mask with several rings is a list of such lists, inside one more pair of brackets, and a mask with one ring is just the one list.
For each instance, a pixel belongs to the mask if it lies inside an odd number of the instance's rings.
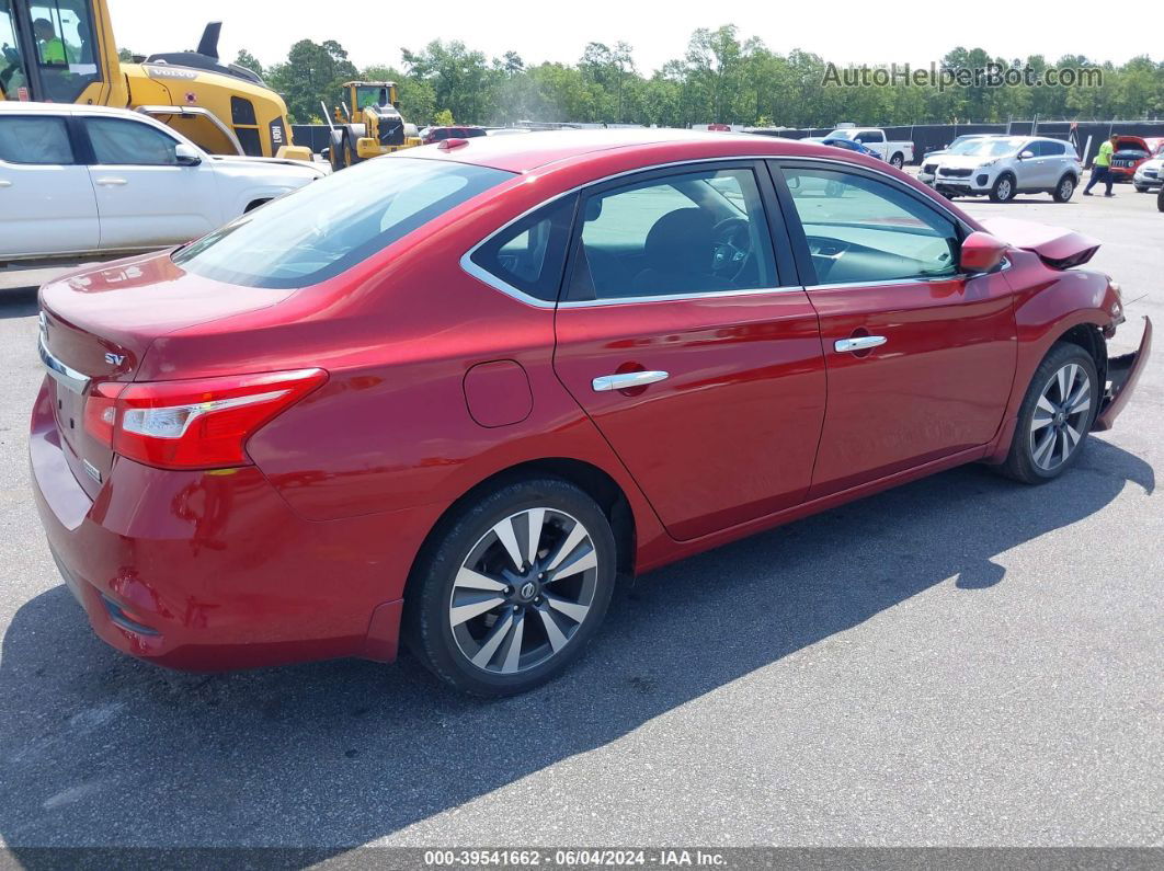
{"label": "white pickup's rear door, cut off by left photo edge", "polygon": [[97,248],[97,199],[63,115],[0,115],[0,258]]}

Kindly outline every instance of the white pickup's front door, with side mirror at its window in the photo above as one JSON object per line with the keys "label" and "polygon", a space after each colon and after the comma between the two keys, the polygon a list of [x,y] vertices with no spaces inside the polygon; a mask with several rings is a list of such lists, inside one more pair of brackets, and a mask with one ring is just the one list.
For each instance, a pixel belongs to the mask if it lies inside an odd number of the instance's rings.
{"label": "white pickup's front door, with side mirror at its window", "polygon": [[213,167],[178,163],[178,140],[134,119],[83,117],[92,145],[101,248],[164,247],[221,223]]}

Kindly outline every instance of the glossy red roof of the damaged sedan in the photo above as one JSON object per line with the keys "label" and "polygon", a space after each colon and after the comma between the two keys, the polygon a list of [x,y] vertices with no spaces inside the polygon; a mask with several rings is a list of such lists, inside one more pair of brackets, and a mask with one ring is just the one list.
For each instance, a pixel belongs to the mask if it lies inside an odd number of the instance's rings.
{"label": "glossy red roof of the damaged sedan", "polygon": [[[447,159],[524,173],[552,163],[584,159],[588,156],[615,149],[653,151],[658,152],[656,156],[665,160],[668,152],[677,156],[690,145],[701,143],[704,145],[731,144],[731,148],[725,149],[724,156],[740,155],[745,151],[773,157],[785,154],[817,154],[818,150],[819,154],[836,154],[836,149],[829,145],[797,143],[795,140],[782,140],[775,136],[668,128],[631,128],[545,130],[524,136],[481,136],[468,140],[464,144],[453,149],[442,149],[440,145],[421,145],[397,151],[391,157]],[[741,148],[745,143],[746,147]],[[682,158],[676,157],[676,159]]]}

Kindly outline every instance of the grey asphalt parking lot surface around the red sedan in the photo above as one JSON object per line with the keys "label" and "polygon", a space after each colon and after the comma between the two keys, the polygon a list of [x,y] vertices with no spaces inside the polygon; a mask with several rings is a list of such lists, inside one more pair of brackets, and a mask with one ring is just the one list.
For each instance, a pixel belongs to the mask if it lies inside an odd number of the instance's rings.
{"label": "grey asphalt parking lot surface around the red sedan", "polygon": [[[965,202],[1103,240],[1164,324],[1164,214]],[[411,659],[163,671],[43,543],[30,291],[0,291],[0,838],[37,845],[1164,844],[1164,351],[1039,488],[966,467],[643,578],[589,655],[480,702]],[[342,578],[321,579],[342,583]]]}

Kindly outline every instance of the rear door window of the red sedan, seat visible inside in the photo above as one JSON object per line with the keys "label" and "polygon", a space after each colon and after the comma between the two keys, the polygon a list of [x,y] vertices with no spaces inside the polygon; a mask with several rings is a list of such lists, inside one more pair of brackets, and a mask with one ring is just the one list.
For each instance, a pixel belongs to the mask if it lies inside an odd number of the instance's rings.
{"label": "rear door window of the red sedan, seat visible inside", "polygon": [[684,172],[587,197],[567,299],[610,300],[776,285],[755,176]]}

